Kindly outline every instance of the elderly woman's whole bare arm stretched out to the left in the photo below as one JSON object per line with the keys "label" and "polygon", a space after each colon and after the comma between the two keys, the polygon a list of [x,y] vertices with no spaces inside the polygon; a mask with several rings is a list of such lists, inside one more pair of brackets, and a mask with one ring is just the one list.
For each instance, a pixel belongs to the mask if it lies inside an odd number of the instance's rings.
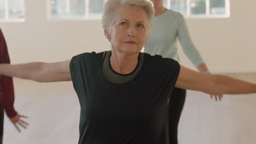
{"label": "elderly woman's whole bare arm stretched out to the left", "polygon": [[69,63],[70,60],[56,63],[0,64],[0,74],[37,82],[71,81]]}

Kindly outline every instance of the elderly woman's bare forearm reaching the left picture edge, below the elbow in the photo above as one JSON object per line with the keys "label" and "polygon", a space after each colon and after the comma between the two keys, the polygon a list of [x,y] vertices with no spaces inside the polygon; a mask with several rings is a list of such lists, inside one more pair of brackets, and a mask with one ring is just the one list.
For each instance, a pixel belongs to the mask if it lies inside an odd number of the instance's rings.
{"label": "elderly woman's bare forearm reaching the left picture edge, below the elbow", "polygon": [[37,81],[37,74],[44,63],[34,62],[26,64],[0,64],[0,74]]}

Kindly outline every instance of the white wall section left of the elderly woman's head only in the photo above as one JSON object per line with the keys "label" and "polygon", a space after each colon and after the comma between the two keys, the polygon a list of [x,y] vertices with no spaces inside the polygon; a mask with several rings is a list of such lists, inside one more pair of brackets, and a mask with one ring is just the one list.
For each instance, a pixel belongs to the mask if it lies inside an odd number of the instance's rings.
{"label": "white wall section left of the elderly woman's head only", "polygon": [[109,49],[100,20],[49,21],[46,1],[26,0],[26,22],[0,23],[13,63],[62,61]]}

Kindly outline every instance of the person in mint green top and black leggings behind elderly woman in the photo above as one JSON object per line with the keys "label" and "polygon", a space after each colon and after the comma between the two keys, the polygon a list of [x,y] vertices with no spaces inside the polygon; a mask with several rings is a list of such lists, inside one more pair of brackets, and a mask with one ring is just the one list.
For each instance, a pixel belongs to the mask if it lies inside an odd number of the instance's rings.
{"label": "person in mint green top and black leggings behind elderly woman", "polygon": [[[150,0],[154,4],[155,17],[152,33],[144,45],[144,52],[150,55],[161,55],[165,58],[179,60],[178,40],[185,55],[202,73],[209,73],[205,62],[191,40],[187,24],[181,13],[166,9],[163,0]],[[178,123],[185,103],[186,90],[174,88],[172,99],[168,101],[168,127],[170,143],[177,144]],[[212,96],[211,96],[212,97]],[[217,97],[215,97],[217,100]]]}

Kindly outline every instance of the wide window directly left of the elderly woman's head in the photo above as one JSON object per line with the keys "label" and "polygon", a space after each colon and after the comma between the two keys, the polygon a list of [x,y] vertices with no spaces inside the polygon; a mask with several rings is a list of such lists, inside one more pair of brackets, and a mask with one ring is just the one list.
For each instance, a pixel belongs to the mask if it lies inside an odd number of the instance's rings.
{"label": "wide window directly left of the elderly woman's head", "polygon": [[49,0],[51,19],[100,19],[107,0]]}

